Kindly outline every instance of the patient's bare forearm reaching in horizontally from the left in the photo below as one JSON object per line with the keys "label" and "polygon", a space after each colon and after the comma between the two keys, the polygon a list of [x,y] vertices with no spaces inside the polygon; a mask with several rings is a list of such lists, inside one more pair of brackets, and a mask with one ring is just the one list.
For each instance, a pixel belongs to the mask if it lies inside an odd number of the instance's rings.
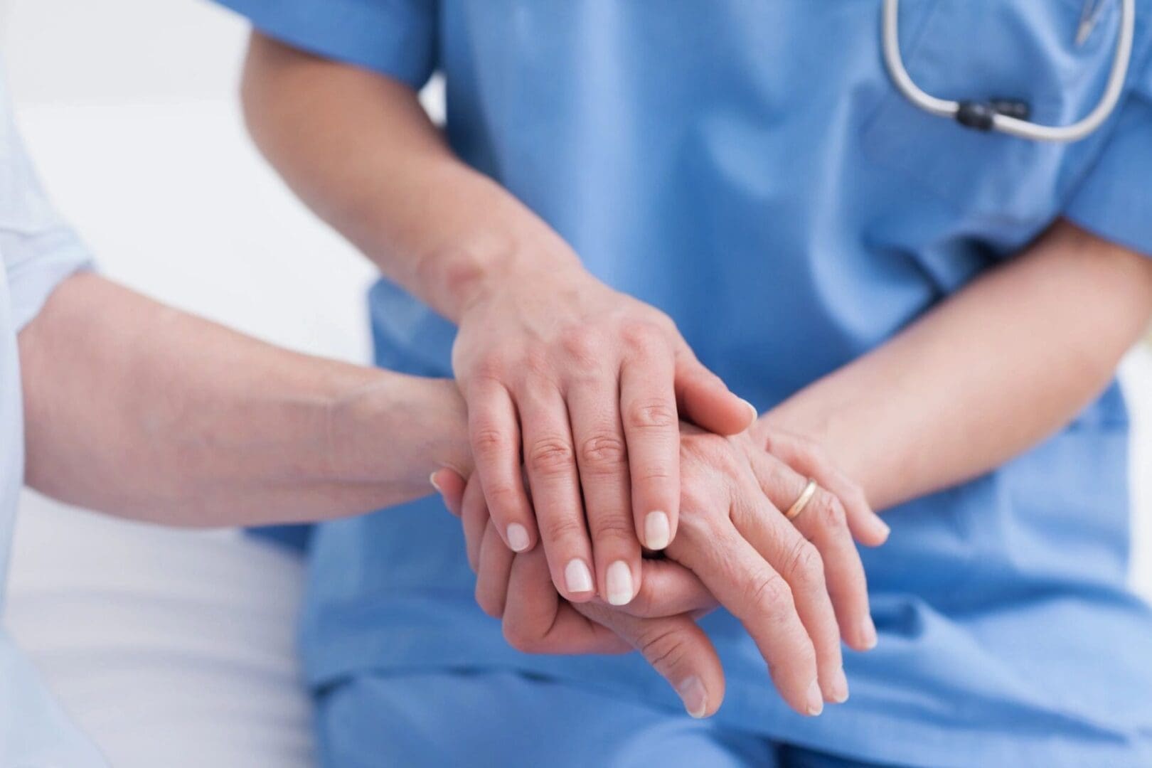
{"label": "patient's bare forearm reaching in horizontally from the left", "polygon": [[339,517],[469,457],[450,381],[288,352],[96,275],[20,335],[26,481],[174,525]]}

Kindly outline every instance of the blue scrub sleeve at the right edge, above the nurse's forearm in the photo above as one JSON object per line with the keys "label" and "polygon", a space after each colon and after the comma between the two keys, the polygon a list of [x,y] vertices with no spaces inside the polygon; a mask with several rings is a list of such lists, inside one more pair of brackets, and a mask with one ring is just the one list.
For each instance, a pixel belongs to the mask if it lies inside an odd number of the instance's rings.
{"label": "blue scrub sleeve at the right edge, above the nurse's forearm", "polygon": [[1137,74],[1112,137],[1063,214],[1152,257],[1152,61]]}

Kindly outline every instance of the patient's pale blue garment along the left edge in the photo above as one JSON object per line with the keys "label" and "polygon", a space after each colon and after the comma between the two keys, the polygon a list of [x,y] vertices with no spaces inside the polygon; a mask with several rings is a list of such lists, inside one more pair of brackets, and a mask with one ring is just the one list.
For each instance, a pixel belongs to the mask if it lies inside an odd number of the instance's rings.
{"label": "patient's pale blue garment along the left edge", "polygon": [[[40,190],[16,132],[0,68],[0,615],[13,524],[24,485],[24,413],[16,334],[89,254]],[[0,626],[0,766],[98,768],[71,724]]]}

